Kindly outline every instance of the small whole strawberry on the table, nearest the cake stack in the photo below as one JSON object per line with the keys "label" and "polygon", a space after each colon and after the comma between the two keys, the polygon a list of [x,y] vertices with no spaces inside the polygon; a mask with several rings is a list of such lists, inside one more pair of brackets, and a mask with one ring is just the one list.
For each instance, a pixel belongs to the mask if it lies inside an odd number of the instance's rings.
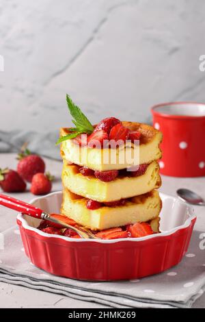
{"label": "small whole strawberry on the table, nearest the cake stack", "polygon": [[36,173],[36,175],[33,175],[31,181],[31,193],[33,195],[46,195],[46,193],[50,193],[52,180],[53,177],[49,173],[45,175],[44,173]]}

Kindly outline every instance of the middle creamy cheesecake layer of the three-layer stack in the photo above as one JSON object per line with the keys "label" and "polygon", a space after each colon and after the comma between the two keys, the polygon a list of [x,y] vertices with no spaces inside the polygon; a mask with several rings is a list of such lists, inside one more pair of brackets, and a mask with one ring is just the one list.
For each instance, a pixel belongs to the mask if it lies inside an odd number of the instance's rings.
{"label": "middle creamy cheesecake layer of the three-layer stack", "polygon": [[159,164],[154,161],[148,165],[146,172],[139,177],[117,177],[111,182],[102,182],[91,176],[79,173],[75,164],[64,162],[62,183],[72,193],[100,202],[115,201],[148,193],[161,186]]}

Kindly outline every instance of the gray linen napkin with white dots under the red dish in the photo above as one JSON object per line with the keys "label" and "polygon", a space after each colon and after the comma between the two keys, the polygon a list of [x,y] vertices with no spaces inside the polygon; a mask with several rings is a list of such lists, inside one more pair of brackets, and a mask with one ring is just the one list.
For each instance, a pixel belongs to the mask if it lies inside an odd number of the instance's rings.
{"label": "gray linen napkin with white dots under the red dish", "polygon": [[194,231],[189,253],[182,262],[159,275],[141,280],[82,282],[51,275],[33,266],[25,256],[15,226],[1,233],[0,281],[113,308],[190,308],[205,290],[202,237],[202,232]]}

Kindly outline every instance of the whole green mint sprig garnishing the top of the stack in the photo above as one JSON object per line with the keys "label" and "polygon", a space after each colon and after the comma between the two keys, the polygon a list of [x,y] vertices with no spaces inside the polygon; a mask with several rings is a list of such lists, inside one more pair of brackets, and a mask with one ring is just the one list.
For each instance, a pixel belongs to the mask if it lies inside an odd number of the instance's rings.
{"label": "whole green mint sprig garnishing the top of the stack", "polygon": [[85,114],[83,114],[81,109],[77,105],[75,105],[75,103],[72,101],[72,99],[68,94],[66,94],[66,101],[68,104],[68,110],[70,111],[70,114],[73,117],[72,123],[74,123],[75,127],[70,127],[69,131],[72,133],[67,134],[66,136],[61,136],[57,140],[56,145],[58,145],[59,143],[65,140],[75,138],[79,134],[83,134],[83,133],[90,134],[94,130],[94,127],[87,119]]}

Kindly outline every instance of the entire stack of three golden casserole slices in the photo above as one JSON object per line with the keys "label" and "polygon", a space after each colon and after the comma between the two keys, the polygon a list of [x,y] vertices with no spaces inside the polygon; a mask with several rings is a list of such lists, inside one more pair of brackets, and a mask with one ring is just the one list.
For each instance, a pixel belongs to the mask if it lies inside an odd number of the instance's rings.
{"label": "entire stack of three golden casserole slices", "polygon": [[[156,189],[161,186],[157,160],[161,158],[162,134],[150,125],[126,121],[122,124],[141,133],[138,146],[130,143],[115,149],[98,149],[79,145],[75,139],[61,143],[64,162],[61,213],[91,230],[148,222],[154,232],[159,232],[162,205]],[[68,133],[69,129],[61,128],[61,136]],[[131,155],[136,156],[137,166]],[[82,167],[90,170],[89,175],[82,174]],[[118,175],[110,181],[98,175],[109,175],[112,171]],[[97,208],[87,207],[90,199],[98,202]]]}

